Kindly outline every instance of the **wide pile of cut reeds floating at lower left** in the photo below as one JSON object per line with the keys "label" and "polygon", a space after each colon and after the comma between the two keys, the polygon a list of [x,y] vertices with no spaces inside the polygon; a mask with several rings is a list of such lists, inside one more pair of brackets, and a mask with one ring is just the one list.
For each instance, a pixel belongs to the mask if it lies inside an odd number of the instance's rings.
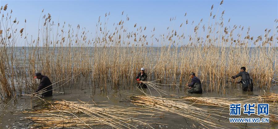
{"label": "wide pile of cut reeds floating at lower left", "polygon": [[142,108],[129,108],[89,102],[54,101],[44,108],[27,110],[23,113],[34,114],[27,119],[35,122],[33,128],[87,127],[108,125],[112,128],[137,128],[132,123],[151,127],[151,119],[160,112]]}

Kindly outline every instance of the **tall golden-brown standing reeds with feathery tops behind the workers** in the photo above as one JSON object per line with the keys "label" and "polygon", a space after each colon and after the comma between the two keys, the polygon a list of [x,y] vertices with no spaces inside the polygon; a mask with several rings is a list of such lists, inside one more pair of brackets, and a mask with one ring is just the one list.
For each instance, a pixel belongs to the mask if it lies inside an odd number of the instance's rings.
{"label": "tall golden-brown standing reeds with feathery tops behind the workers", "polygon": [[[131,22],[128,15],[111,28],[107,13],[104,19],[99,17],[95,32],[89,32],[80,25],[54,22],[43,10],[38,34],[29,36],[25,27],[17,26],[18,19],[7,8],[1,7],[0,12],[2,99],[33,92],[37,87],[35,72],[47,75],[52,82],[82,72],[65,87],[86,86],[100,88],[102,92],[130,88],[127,84],[133,84],[141,67],[145,67],[148,80],[160,79],[164,84],[188,83],[188,73],[193,71],[209,92],[225,93],[225,89],[234,88],[230,77],[242,66],[255,81],[255,88],[269,89],[278,79],[277,27],[266,29],[261,36],[251,36],[250,28],[246,33],[243,26],[229,28],[230,19],[223,19],[224,11],[221,15],[211,13],[208,23],[201,19],[191,25],[185,14],[186,20],[178,29],[169,26],[168,33],[158,36],[152,27],[136,23],[128,27],[126,23]],[[175,18],[170,22],[176,24]],[[194,29],[187,32],[187,28]],[[146,35],[148,31],[152,34]],[[251,44],[255,47],[251,48]]]}

